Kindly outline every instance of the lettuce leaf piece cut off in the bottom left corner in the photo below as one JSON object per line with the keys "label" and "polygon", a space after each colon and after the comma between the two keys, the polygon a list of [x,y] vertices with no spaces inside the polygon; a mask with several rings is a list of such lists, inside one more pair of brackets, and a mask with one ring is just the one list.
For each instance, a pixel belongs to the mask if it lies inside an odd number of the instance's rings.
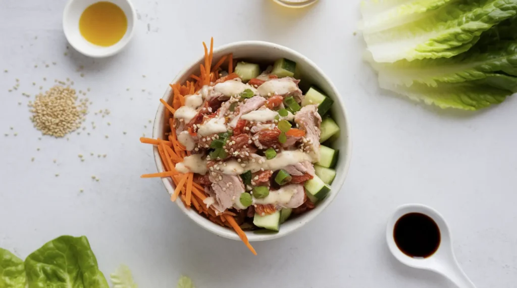
{"label": "lettuce leaf piece cut off in the bottom left corner", "polygon": [[0,287],[25,288],[25,266],[11,252],[0,248]]}

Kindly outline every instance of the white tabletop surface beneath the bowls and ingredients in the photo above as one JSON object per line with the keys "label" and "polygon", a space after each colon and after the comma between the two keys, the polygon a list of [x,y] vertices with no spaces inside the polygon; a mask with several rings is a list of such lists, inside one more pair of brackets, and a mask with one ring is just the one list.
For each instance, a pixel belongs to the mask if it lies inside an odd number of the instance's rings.
{"label": "white tabletop surface beneath the bowls and ingredients", "polygon": [[[448,220],[458,261],[478,287],[517,286],[517,99],[461,113],[379,90],[353,35],[358,0],[300,10],[268,0],[135,0],[133,40],[101,60],[64,55],[65,3],[0,0],[0,247],[26,257],[59,235],[86,235],[105,275],[125,263],[144,288],[174,287],[181,274],[199,288],[452,287],[387,250],[387,217],[419,202]],[[139,178],[156,168],[138,138],[150,135],[158,99],[210,36],[216,47],[265,40],[305,54],[334,81],[352,124],[352,164],[337,199],[297,233],[255,243],[258,256],[195,225],[159,179]],[[33,99],[40,85],[67,77],[91,88],[87,129],[69,141],[38,140],[21,93]],[[19,90],[8,93],[16,78]]]}

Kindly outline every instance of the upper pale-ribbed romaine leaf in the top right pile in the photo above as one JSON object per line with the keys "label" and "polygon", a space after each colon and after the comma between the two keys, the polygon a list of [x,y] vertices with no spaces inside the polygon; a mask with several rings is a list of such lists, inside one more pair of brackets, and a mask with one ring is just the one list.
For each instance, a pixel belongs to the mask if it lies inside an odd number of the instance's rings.
{"label": "upper pale-ribbed romaine leaf in the top right pile", "polygon": [[517,0],[371,0],[366,7],[363,36],[368,50],[376,62],[392,63],[449,58],[469,50],[482,32],[515,16]]}

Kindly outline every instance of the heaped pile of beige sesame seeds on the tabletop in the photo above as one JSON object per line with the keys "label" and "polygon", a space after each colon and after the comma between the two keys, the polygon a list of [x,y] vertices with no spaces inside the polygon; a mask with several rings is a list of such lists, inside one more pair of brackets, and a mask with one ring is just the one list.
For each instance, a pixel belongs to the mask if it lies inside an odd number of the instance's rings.
{"label": "heaped pile of beige sesame seeds on the tabletop", "polygon": [[88,99],[78,101],[75,89],[56,85],[38,94],[29,107],[36,129],[44,135],[61,138],[81,126],[88,111]]}

